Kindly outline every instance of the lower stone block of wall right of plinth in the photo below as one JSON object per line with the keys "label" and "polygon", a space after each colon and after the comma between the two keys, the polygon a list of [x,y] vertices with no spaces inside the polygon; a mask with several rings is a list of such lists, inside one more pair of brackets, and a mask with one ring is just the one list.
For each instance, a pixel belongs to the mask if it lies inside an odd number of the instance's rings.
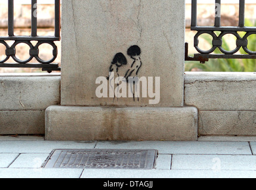
{"label": "lower stone block of wall right of plinth", "polygon": [[199,135],[256,135],[256,111],[199,111]]}

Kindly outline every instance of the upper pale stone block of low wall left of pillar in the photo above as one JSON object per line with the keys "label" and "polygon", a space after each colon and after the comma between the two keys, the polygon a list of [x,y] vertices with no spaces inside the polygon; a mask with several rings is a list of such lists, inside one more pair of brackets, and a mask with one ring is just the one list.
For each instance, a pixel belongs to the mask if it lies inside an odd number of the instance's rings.
{"label": "upper pale stone block of low wall left of pillar", "polygon": [[60,103],[60,75],[0,75],[0,110],[44,110]]}

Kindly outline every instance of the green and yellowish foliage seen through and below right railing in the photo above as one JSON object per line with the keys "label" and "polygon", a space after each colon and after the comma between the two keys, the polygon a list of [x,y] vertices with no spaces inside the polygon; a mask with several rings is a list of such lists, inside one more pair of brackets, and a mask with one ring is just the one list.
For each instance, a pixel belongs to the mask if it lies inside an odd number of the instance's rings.
{"label": "green and yellowish foliage seen through and below right railing", "polygon": [[[251,21],[245,20],[245,26],[256,26],[256,24],[252,24]],[[238,33],[241,37],[245,35],[245,32]],[[216,34],[218,35],[220,33],[216,32]],[[209,35],[202,35],[202,38],[210,45],[212,44],[212,38],[209,37]],[[235,36],[234,39],[236,39]],[[222,47],[228,51],[232,50],[224,38]],[[256,34],[252,34],[248,37],[248,49],[256,52]],[[222,54],[218,48],[216,48],[213,53]],[[240,48],[239,53],[247,54],[242,47]],[[255,72],[256,59],[209,59],[205,64],[200,64],[195,61],[186,61],[185,71]]]}

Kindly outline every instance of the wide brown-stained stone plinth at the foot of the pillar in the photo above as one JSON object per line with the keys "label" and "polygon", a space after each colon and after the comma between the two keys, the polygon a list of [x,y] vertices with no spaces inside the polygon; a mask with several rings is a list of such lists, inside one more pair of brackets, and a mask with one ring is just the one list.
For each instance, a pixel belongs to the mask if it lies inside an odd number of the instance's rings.
{"label": "wide brown-stained stone plinth at the foot of the pillar", "polygon": [[195,107],[50,106],[45,111],[46,140],[195,141]]}

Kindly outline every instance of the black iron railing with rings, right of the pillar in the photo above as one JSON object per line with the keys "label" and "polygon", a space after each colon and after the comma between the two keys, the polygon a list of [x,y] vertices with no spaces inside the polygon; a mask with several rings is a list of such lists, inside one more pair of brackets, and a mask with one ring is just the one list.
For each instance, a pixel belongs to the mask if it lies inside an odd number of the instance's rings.
{"label": "black iron railing with rings, right of the pillar", "polygon": [[[239,26],[224,27],[221,26],[221,0],[215,0],[215,23],[214,26],[198,26],[197,24],[197,0],[192,0],[192,17],[191,30],[198,31],[194,37],[194,47],[199,52],[190,57],[188,55],[188,43],[185,44],[185,61],[200,61],[205,63],[209,59],[256,59],[256,52],[248,49],[248,36],[256,34],[256,27],[245,26],[245,0],[239,0]],[[217,35],[214,31],[220,31]],[[246,34],[240,37],[238,31],[244,31]],[[202,34],[210,34],[212,36],[212,47],[209,50],[202,50],[198,47],[198,37]],[[223,49],[223,36],[226,34],[233,34],[236,37],[236,48],[228,51]],[[243,48],[248,54],[235,54],[240,48]],[[211,54],[218,48],[223,54]],[[234,55],[235,54],[235,55]]]}

